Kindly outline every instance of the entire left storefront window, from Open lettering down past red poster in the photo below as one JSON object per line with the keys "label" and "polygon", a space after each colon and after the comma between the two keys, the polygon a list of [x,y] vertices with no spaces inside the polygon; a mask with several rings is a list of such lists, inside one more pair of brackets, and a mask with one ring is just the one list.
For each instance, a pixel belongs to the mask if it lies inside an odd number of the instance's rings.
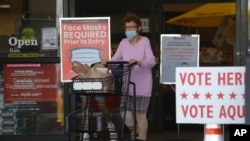
{"label": "entire left storefront window, from Open lettering down past red poster", "polygon": [[64,133],[56,1],[0,0],[0,136]]}

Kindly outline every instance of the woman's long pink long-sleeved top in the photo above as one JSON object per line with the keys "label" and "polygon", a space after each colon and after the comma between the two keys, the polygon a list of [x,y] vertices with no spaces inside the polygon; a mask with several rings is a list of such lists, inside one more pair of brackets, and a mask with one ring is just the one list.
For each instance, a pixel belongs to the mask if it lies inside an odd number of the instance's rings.
{"label": "woman's long pink long-sleeved top", "polygon": [[[127,38],[122,39],[111,61],[129,61],[130,59],[141,61],[141,66],[133,67],[130,77],[130,81],[136,85],[136,95],[151,96],[153,85],[151,68],[156,62],[147,37],[141,36],[135,45],[131,45]],[[129,89],[129,94],[133,95],[132,87]]]}

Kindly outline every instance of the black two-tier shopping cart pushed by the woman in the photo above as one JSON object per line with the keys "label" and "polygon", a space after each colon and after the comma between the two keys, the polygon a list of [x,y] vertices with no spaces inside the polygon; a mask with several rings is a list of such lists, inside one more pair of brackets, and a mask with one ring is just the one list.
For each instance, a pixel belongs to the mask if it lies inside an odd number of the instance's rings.
{"label": "black two-tier shopping cart pushed by the woman", "polygon": [[[78,132],[87,136],[89,140],[107,140],[111,141],[125,139],[125,117],[127,110],[128,91],[131,86],[134,89],[135,84],[130,81],[131,70],[134,64],[126,61],[107,62],[107,68],[112,75],[105,78],[72,78],[71,93],[87,96],[87,106],[79,108],[65,117],[65,131]],[[123,103],[112,106],[108,113],[101,113],[95,106],[93,97],[96,95],[124,97]],[[124,114],[121,114],[121,113]],[[123,116],[123,118],[121,117]],[[105,121],[111,120],[115,125],[115,130],[110,130]],[[129,136],[130,137],[130,136]]]}

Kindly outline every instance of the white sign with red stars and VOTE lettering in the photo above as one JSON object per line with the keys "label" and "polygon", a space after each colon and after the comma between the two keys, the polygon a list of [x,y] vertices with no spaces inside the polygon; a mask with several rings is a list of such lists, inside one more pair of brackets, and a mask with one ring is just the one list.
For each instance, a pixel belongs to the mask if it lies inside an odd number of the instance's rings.
{"label": "white sign with red stars and VOTE lettering", "polygon": [[245,123],[245,67],[177,67],[177,123]]}

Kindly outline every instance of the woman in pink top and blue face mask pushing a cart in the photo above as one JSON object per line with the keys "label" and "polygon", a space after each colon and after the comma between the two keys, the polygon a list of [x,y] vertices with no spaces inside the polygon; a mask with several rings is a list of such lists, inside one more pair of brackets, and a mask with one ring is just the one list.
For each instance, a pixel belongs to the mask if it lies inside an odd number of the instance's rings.
{"label": "woman in pink top and blue face mask pushing a cart", "polygon": [[[155,65],[155,56],[153,55],[150,41],[147,37],[140,35],[142,32],[142,23],[140,18],[134,13],[127,13],[124,18],[124,29],[126,38],[119,43],[117,51],[110,61],[128,61],[136,63],[131,71],[130,81],[136,85],[136,127],[138,136],[137,141],[147,139],[148,120],[147,110],[152,91],[152,72]],[[128,111],[126,113],[126,126],[133,131],[133,89],[129,89]]]}

